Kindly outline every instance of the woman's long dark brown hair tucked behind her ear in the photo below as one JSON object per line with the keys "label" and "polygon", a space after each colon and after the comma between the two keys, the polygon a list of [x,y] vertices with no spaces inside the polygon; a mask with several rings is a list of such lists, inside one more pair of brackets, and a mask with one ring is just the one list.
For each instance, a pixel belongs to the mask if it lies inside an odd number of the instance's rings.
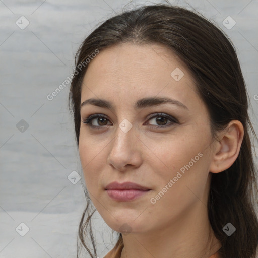
{"label": "woman's long dark brown hair tucked behind her ear", "polygon": [[[249,97],[231,40],[220,28],[196,12],[170,4],[142,6],[108,19],[87,36],[76,54],[75,71],[96,49],[102,51],[127,42],[163,44],[185,63],[209,111],[214,140],[216,132],[225,128],[231,120],[239,120],[243,124],[244,137],[237,159],[230,168],[212,174],[208,213],[214,234],[222,244],[219,251],[221,257],[254,258],[258,246],[258,221],[255,214],[258,189],[250,135],[252,133],[256,140],[257,136],[248,116]],[[75,74],[69,94],[77,146],[81,86],[87,67],[88,64],[85,64]],[[81,218],[79,238],[91,257],[95,257],[97,253],[91,228],[91,216],[95,210],[91,209],[87,190],[85,196],[87,207]],[[222,230],[228,222],[236,228],[231,236]],[[85,242],[87,233],[94,256]],[[120,242],[121,233],[117,245]]]}

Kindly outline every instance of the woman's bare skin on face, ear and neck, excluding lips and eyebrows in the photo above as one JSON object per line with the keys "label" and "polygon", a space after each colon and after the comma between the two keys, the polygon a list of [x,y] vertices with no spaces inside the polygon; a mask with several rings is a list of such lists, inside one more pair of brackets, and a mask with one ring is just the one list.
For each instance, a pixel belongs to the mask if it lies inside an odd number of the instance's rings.
{"label": "woman's bare skin on face, ear and neck, excluding lips and eyebrows", "polygon": [[[82,121],[91,114],[104,114],[107,120],[92,120],[93,125],[102,126],[99,130],[81,122],[80,160],[94,206],[109,227],[122,233],[121,258],[210,257],[221,247],[208,219],[211,174],[236,160],[242,124],[231,121],[218,134],[219,141],[213,141],[209,113],[190,72],[162,45],[112,46],[100,51],[88,66],[81,103],[89,98],[105,99],[115,110],[82,106]],[[170,75],[175,68],[184,73],[179,81]],[[135,102],[146,97],[173,98],[188,110],[172,104],[135,110]],[[171,115],[178,123],[149,118],[158,112]],[[124,119],[133,126],[127,133],[119,127]],[[198,153],[203,156],[151,203]],[[151,190],[133,201],[114,201],[105,190],[113,181],[131,181]]]}

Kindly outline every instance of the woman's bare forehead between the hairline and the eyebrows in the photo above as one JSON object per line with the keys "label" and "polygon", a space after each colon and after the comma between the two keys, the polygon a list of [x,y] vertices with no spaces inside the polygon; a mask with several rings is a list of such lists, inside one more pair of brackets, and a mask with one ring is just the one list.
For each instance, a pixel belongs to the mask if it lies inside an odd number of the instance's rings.
{"label": "woman's bare forehead between the hairline and the eyebrows", "polygon": [[193,78],[173,51],[159,44],[124,43],[100,51],[91,60],[82,98],[106,96],[115,101],[114,96],[160,95],[186,101],[195,91]]}

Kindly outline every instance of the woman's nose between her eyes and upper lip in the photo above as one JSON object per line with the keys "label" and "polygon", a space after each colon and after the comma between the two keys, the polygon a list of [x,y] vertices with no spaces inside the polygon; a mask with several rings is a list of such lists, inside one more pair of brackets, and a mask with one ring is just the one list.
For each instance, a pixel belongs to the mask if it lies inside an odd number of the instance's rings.
{"label": "woman's nose between her eyes and upper lip", "polygon": [[119,171],[135,169],[142,164],[141,141],[136,135],[134,126],[124,132],[117,127],[116,135],[110,143],[108,164]]}

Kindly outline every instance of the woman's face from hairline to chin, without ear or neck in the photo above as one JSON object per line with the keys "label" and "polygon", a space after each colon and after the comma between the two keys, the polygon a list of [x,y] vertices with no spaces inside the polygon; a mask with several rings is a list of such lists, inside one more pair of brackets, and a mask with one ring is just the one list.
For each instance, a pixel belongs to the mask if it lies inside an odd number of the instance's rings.
{"label": "woman's face from hairline to chin, without ear or neck", "polygon": [[[81,104],[94,98],[113,107],[97,101],[81,107],[84,179],[105,222],[118,232],[150,232],[173,225],[193,209],[207,209],[209,116],[184,64],[158,44],[122,44],[100,51],[88,66]],[[146,98],[174,103],[140,101]],[[102,117],[83,123],[93,114]],[[114,181],[149,190],[131,191],[122,199],[122,190],[105,189]]]}

